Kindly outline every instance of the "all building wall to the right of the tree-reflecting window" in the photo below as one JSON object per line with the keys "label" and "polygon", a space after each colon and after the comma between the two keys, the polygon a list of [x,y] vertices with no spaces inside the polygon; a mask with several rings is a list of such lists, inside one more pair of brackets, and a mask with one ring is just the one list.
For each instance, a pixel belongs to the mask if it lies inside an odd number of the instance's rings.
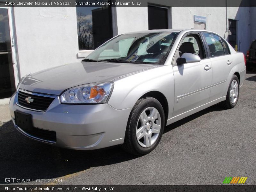
{"label": "all building wall to the right of the tree-reflecting window", "polygon": [[[245,53],[251,39],[256,39],[254,35],[256,34],[256,9],[255,7],[228,7],[227,11],[228,19],[237,20],[238,51]],[[228,39],[226,7],[172,7],[169,14],[171,14],[169,18],[172,20],[172,28],[194,28],[194,15],[198,15],[206,17],[207,30]],[[147,7],[117,7],[116,17],[118,34],[148,30]],[[252,37],[253,35],[255,37]]]}

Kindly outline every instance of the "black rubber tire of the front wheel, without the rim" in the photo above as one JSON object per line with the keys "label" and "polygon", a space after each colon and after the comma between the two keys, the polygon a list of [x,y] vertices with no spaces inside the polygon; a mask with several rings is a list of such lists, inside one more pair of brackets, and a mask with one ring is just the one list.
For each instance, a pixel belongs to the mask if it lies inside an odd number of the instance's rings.
{"label": "black rubber tire of the front wheel, without the rim", "polygon": [[[161,117],[161,128],[160,128],[159,135],[156,141],[154,142],[154,144],[151,145],[150,147],[142,147],[136,138],[137,122],[139,120],[140,114],[148,107],[154,107],[159,112]],[[132,108],[131,114],[127,122],[123,148],[127,152],[137,156],[142,156],[150,153],[152,150],[156,148],[159,141],[161,140],[161,137],[164,132],[164,126],[165,126],[164,109],[161,103],[152,97],[147,97],[147,98],[138,100],[134,105],[134,107]]]}

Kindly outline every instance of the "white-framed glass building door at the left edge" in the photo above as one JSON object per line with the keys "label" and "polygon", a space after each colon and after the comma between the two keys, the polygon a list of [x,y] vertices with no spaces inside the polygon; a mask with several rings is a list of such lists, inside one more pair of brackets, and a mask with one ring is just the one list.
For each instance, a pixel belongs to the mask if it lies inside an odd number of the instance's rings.
{"label": "white-framed glass building door at the left edge", "polygon": [[18,81],[10,9],[0,7],[0,104],[12,96]]}

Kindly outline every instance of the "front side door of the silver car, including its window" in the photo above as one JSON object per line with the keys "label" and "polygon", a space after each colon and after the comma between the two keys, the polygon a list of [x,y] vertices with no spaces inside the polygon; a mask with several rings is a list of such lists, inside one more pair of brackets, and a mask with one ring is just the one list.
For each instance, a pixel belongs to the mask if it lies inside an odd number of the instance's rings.
{"label": "front side door of the silver car, including its window", "polygon": [[[172,63],[175,82],[173,117],[204,105],[209,100],[212,64],[205,50],[199,32],[188,33],[181,40]],[[177,65],[177,58],[185,52],[198,55],[201,61]]]}

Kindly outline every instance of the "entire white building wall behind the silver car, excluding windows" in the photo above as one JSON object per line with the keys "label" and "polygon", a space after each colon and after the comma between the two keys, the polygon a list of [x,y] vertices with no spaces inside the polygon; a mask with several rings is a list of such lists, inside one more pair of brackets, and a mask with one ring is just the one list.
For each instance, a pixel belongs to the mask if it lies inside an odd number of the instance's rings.
{"label": "entire white building wall behind the silver car, excluding windows", "polygon": [[[148,30],[147,7],[114,9],[114,35]],[[256,9],[227,9],[228,18],[237,20],[238,48],[245,53],[256,39]],[[207,30],[228,37],[226,7],[172,7],[169,14],[172,28],[194,28],[194,15],[198,15],[206,17]],[[91,52],[78,50],[75,7],[14,7],[14,18],[20,76],[80,61]]]}

